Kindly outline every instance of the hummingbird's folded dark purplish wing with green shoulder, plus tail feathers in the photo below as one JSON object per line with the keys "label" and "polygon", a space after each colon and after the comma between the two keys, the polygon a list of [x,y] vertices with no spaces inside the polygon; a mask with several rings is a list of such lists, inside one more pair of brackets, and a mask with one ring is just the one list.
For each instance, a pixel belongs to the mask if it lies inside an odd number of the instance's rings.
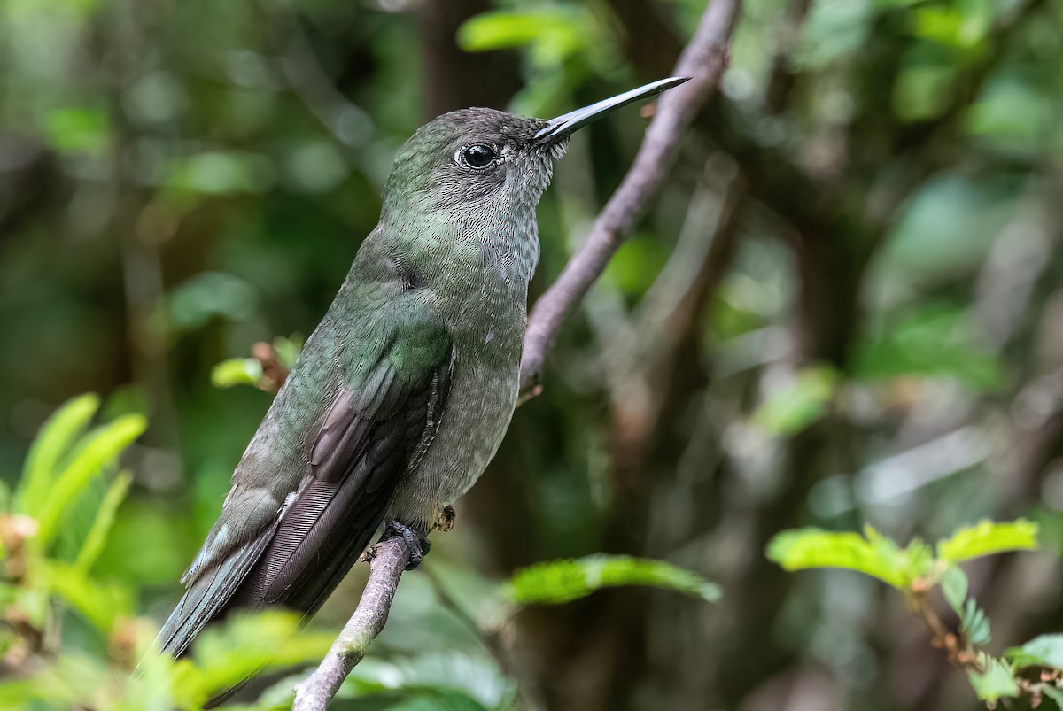
{"label": "hummingbird's folded dark purplish wing with green shoulder, plus tail feathers", "polygon": [[[167,654],[183,654],[233,608],[280,604],[311,614],[371,541],[399,481],[432,441],[454,367],[446,329],[427,308],[382,311],[388,325],[373,338],[376,355],[333,401],[309,447],[309,474],[281,506],[239,485],[230,493],[225,509],[256,519],[272,503],[270,522],[242,540],[208,538],[159,633]],[[221,521],[216,530],[224,530]]]}

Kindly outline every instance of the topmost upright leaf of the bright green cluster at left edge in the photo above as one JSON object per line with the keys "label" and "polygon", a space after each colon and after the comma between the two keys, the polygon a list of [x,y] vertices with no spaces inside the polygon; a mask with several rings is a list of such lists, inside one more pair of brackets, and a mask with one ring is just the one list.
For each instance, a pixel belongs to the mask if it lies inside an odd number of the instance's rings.
{"label": "topmost upright leaf of the bright green cluster at left edge", "polygon": [[99,409],[99,395],[88,393],[68,400],[45,421],[22,467],[22,477],[15,491],[15,512],[37,514],[55,479],[60,460],[84,434]]}

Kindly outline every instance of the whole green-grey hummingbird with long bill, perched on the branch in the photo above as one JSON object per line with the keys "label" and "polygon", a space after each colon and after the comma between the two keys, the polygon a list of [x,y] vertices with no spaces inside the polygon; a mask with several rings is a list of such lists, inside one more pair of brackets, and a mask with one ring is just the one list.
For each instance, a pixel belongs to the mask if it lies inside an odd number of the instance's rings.
{"label": "whole green-grey hummingbird with long bill, perched on the branch", "polygon": [[536,206],[576,130],[687,81],[550,121],[444,114],[395,157],[379,222],[233,473],[158,646],[233,610],[313,615],[382,525],[427,536],[483,474],[517,403]]}

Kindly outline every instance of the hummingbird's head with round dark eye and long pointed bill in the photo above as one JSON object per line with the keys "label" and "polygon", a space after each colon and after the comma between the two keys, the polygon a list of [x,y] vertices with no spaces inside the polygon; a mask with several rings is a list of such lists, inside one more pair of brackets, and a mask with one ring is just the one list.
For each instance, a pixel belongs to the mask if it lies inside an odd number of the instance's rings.
{"label": "hummingbird's head with round dark eye and long pointed bill", "polygon": [[399,152],[385,188],[385,211],[534,210],[573,132],[685,81],[654,82],[550,121],[493,108],[443,114],[418,129]]}

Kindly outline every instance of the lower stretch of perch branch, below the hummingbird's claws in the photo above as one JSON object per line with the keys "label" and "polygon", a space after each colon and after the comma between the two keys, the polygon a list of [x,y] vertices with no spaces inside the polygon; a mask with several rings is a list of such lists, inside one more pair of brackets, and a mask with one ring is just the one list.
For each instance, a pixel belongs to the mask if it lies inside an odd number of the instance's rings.
{"label": "lower stretch of perch branch, below the hummingbird's claws", "polygon": [[351,673],[373,640],[384,630],[391,611],[399,579],[409,562],[409,544],[394,534],[376,546],[369,562],[369,580],[358,600],[358,607],[348,620],[343,631],[333,643],[318,668],[296,687],[292,711],[324,711],[336,695],[343,679]]}

